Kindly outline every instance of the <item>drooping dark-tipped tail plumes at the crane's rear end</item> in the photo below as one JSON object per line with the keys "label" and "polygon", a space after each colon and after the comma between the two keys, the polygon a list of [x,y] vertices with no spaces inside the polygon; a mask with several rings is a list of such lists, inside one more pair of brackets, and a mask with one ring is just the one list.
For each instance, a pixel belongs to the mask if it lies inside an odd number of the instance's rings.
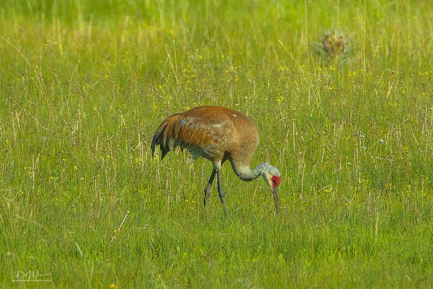
{"label": "drooping dark-tipped tail plumes at the crane's rear end", "polygon": [[157,132],[155,132],[153,136],[152,145],[150,146],[152,157],[154,156],[156,145],[159,145],[161,149],[161,159],[164,159],[167,153],[178,145],[177,135],[181,121],[182,119],[179,114],[173,114],[173,116],[168,116],[168,118],[159,125]]}

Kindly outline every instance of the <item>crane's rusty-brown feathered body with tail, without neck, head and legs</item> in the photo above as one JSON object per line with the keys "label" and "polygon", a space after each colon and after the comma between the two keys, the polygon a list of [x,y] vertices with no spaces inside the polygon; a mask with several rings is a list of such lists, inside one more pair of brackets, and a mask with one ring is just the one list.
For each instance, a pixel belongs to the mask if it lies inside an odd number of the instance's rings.
{"label": "crane's rusty-brown feathered body with tail, without neck, head and legs", "polygon": [[176,146],[211,161],[227,157],[235,164],[249,164],[258,144],[256,125],[241,112],[225,107],[195,107],[165,119],[152,140],[161,148],[161,159]]}

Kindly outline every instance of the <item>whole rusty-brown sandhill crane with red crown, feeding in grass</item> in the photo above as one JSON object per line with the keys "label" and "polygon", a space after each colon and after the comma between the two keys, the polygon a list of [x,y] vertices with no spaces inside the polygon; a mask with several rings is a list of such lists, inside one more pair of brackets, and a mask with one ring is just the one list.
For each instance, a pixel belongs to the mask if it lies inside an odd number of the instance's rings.
{"label": "whole rusty-brown sandhill crane with red crown, feeding in grass", "polygon": [[279,170],[265,162],[252,170],[249,168],[257,144],[256,125],[245,114],[224,107],[202,106],[168,116],[155,132],[151,150],[153,157],[155,146],[159,145],[163,159],[170,150],[180,146],[182,150],[187,148],[190,152],[188,162],[200,157],[212,161],[213,171],[204,189],[204,207],[211,195],[211,186],[216,174],[218,194],[224,213],[227,213],[220,170],[224,161],[229,160],[234,173],[242,181],[252,181],[259,175],[265,179],[274,195],[276,210],[279,211]]}

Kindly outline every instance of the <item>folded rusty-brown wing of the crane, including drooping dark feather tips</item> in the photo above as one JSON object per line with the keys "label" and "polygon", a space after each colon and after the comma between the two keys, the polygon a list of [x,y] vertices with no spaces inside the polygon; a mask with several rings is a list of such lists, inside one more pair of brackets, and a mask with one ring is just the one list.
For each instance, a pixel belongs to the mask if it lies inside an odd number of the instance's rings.
{"label": "folded rusty-brown wing of the crane, including drooping dark feather tips", "polygon": [[[233,123],[220,117],[218,120],[197,114],[174,114],[165,119],[152,139],[152,156],[156,145],[161,148],[161,159],[170,150],[180,146],[183,150],[188,148],[193,159],[200,157],[201,152],[206,155],[224,154],[225,141],[233,132]],[[195,152],[200,150],[200,152]]]}

